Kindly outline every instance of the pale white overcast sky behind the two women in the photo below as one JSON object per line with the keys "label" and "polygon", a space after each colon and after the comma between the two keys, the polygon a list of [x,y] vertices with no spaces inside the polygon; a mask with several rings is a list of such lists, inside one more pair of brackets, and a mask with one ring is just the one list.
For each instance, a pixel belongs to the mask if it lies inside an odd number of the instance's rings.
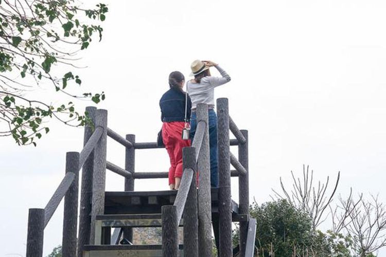
{"label": "pale white overcast sky behind the two women", "polygon": [[[290,171],[300,175],[305,163],[318,179],[341,171],[341,194],[353,187],[386,203],[386,2],[103,2],[102,42],[83,53],[88,67],[79,74],[84,91],[105,91],[98,107],[108,109],[114,131],[155,141],[169,73],[187,77],[192,60],[213,60],[232,77],[216,98],[229,98],[232,118],[249,130],[251,199],[269,200],[279,177],[289,186]],[[48,89],[39,94],[56,98]],[[25,255],[28,208],[44,208],[63,177],[65,152],[82,149],[82,128],[50,126],[37,148],[1,139],[0,256]],[[124,156],[110,140],[108,160],[124,167]],[[136,171],[167,169],[165,150],[137,152]],[[107,190],[122,190],[123,181],[109,172]],[[168,188],[167,180],[136,185]],[[44,254],[61,244],[62,213],[60,206],[45,229]]]}

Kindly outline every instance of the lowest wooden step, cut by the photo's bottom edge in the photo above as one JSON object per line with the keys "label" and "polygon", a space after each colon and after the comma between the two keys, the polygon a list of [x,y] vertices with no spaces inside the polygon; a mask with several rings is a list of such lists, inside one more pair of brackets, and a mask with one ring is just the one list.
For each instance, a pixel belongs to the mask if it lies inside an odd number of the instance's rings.
{"label": "lowest wooden step, cut by the photo's bottom edge", "polygon": [[[183,245],[179,245],[184,256]],[[161,245],[86,245],[83,257],[162,257]]]}

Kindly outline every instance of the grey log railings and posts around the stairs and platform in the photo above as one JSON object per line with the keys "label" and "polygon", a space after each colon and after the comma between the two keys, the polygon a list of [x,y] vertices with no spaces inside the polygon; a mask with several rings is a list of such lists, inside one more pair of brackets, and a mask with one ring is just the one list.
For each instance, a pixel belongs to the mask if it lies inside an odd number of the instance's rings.
{"label": "grey log railings and posts around the stairs and platform", "polygon": [[[94,244],[95,219],[104,214],[106,169],[125,177],[125,191],[134,191],[135,179],[167,178],[167,172],[135,172],[135,150],[157,149],[155,142],[135,142],[135,135],[120,136],[107,126],[107,111],[87,107],[95,131],[84,130],[84,147],[80,153],[66,156],[66,174],[45,209],[30,209],[28,217],[27,255],[42,256],[44,228],[64,197],[63,256],[82,256],[83,247]],[[213,224],[220,256],[232,256],[231,176],[239,178],[239,214],[249,215],[248,131],[239,130],[229,116],[227,99],[217,100],[219,223]],[[229,138],[229,131],[236,139]],[[125,146],[125,168],[106,160],[107,137]],[[238,159],[230,146],[238,146]],[[173,206],[162,207],[163,253],[177,256],[177,228],[184,213],[185,256],[211,256],[212,220],[210,199],[208,112],[205,104],[197,107],[197,128],[191,147],[183,149],[183,176]],[[230,169],[230,165],[235,170]],[[82,169],[78,246],[76,246],[79,170]],[[197,170],[200,171],[197,189]],[[198,200],[200,199],[200,200]],[[198,226],[200,224],[200,226]],[[216,228],[217,226],[217,228]],[[216,230],[218,232],[216,232]],[[248,222],[240,222],[240,256],[245,254]],[[132,240],[132,230],[123,229]],[[200,246],[200,247],[198,247]],[[250,249],[251,247],[249,247]],[[77,252],[76,252],[76,249]],[[250,252],[250,251],[249,251]],[[252,250],[253,252],[253,250]]]}

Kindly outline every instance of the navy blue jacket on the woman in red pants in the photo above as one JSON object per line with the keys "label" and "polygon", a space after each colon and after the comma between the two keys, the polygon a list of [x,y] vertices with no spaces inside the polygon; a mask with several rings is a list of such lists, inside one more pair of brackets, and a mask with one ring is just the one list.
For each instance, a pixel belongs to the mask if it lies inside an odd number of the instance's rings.
{"label": "navy blue jacket on the woman in red pants", "polygon": [[[185,93],[176,88],[170,88],[161,97],[161,120],[163,122],[184,121],[185,118]],[[186,118],[190,120],[191,101],[188,96]]]}

